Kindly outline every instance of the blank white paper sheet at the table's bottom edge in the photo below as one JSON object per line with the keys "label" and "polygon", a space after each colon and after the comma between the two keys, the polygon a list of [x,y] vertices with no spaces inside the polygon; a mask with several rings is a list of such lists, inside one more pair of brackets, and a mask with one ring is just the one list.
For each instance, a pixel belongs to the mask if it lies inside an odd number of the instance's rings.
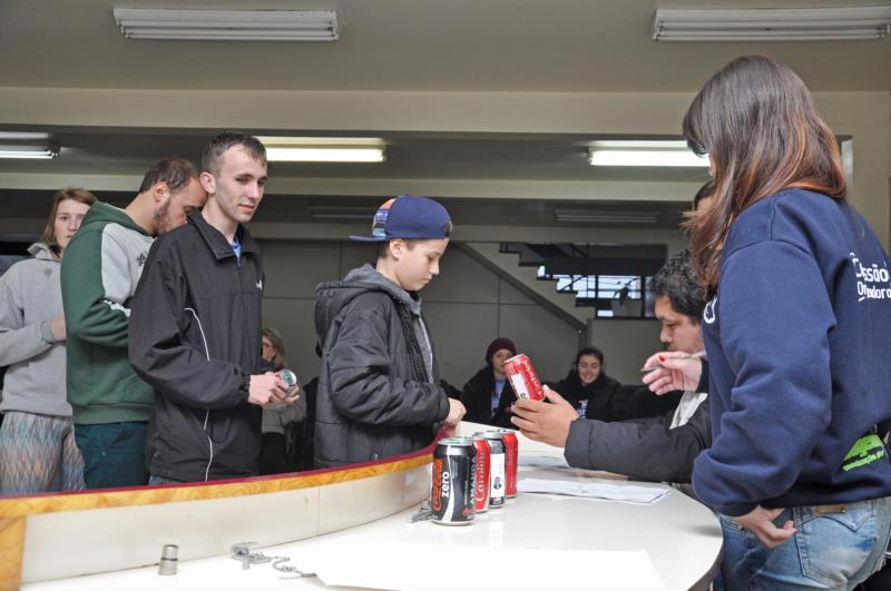
{"label": "blank white paper sheet at the table's bottom edge", "polygon": [[351,539],[303,546],[294,562],[315,572],[325,585],[371,589],[665,589],[646,550],[532,550]]}

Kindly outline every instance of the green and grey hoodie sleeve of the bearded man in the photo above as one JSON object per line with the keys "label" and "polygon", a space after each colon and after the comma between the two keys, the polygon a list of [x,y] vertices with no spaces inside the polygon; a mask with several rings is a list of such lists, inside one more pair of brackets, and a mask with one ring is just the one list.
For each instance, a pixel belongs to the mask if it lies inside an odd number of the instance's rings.
{"label": "green and grey hoodie sleeve of the bearded man", "polygon": [[62,257],[61,283],[69,335],[96,345],[127,346],[130,268],[124,246],[106,232],[78,234]]}

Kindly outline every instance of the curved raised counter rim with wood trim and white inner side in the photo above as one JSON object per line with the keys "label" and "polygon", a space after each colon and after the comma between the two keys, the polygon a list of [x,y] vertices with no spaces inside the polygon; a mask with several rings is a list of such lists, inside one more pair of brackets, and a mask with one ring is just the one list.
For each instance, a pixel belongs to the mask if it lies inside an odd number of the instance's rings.
{"label": "curved raised counter rim with wood trim and white inner side", "polygon": [[[163,535],[185,544],[179,558],[188,560],[226,553],[238,541],[270,545],[380,519],[429,494],[427,466],[435,441],[452,433],[440,431],[418,452],[340,469],[0,499],[0,590],[18,589],[22,581],[157,562],[157,540]],[[281,524],[264,511],[281,514]],[[255,514],[256,520],[245,514]],[[221,521],[226,521],[223,529]],[[190,529],[177,526],[183,522]],[[82,548],[90,544],[92,554]],[[60,551],[72,555],[60,563]],[[102,553],[114,555],[106,560]],[[55,570],[47,570],[47,563]]]}

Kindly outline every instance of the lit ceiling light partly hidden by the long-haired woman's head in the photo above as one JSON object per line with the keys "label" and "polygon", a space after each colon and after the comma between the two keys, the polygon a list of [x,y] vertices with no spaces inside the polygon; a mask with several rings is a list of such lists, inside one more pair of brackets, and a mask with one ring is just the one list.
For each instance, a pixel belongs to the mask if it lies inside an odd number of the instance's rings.
{"label": "lit ceiling light partly hidden by the long-haired woman's head", "polygon": [[588,148],[591,166],[708,167],[708,157],[696,156],[686,141],[604,140]]}

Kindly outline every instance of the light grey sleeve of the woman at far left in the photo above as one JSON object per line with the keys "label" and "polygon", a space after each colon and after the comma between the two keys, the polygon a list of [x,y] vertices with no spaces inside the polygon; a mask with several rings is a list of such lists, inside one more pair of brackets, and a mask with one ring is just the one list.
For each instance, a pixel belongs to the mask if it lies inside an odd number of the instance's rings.
{"label": "light grey sleeve of the woman at far left", "polygon": [[56,342],[49,321],[25,325],[21,279],[14,267],[0,277],[0,366],[30,359]]}

